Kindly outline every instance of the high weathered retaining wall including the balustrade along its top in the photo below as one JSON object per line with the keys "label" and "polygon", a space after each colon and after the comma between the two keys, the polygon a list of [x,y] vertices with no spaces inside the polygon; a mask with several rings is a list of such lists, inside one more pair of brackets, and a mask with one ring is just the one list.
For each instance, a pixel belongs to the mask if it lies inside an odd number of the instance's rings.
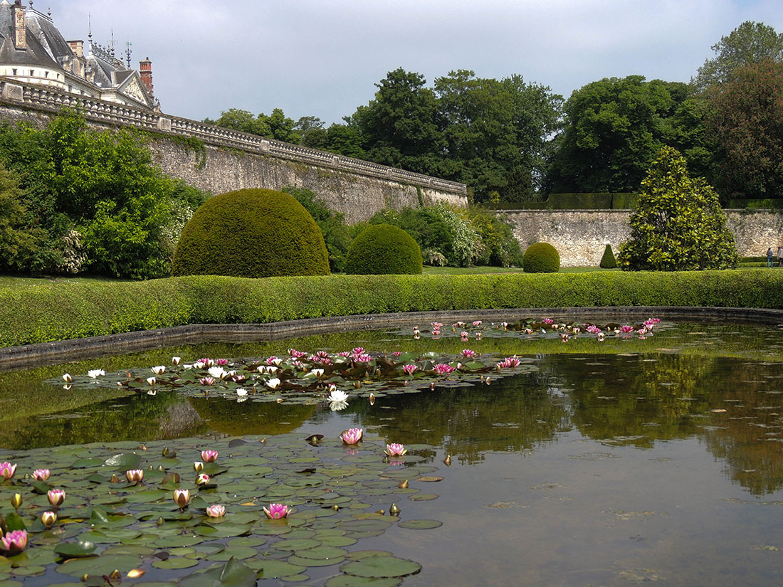
{"label": "high weathered retaining wall including the balustrade along its top", "polygon": [[0,121],[45,124],[63,106],[77,108],[89,124],[99,128],[151,132],[153,156],[161,170],[210,193],[296,185],[312,189],[351,222],[366,220],[386,207],[438,202],[467,206],[467,187],[457,182],[0,79]]}

